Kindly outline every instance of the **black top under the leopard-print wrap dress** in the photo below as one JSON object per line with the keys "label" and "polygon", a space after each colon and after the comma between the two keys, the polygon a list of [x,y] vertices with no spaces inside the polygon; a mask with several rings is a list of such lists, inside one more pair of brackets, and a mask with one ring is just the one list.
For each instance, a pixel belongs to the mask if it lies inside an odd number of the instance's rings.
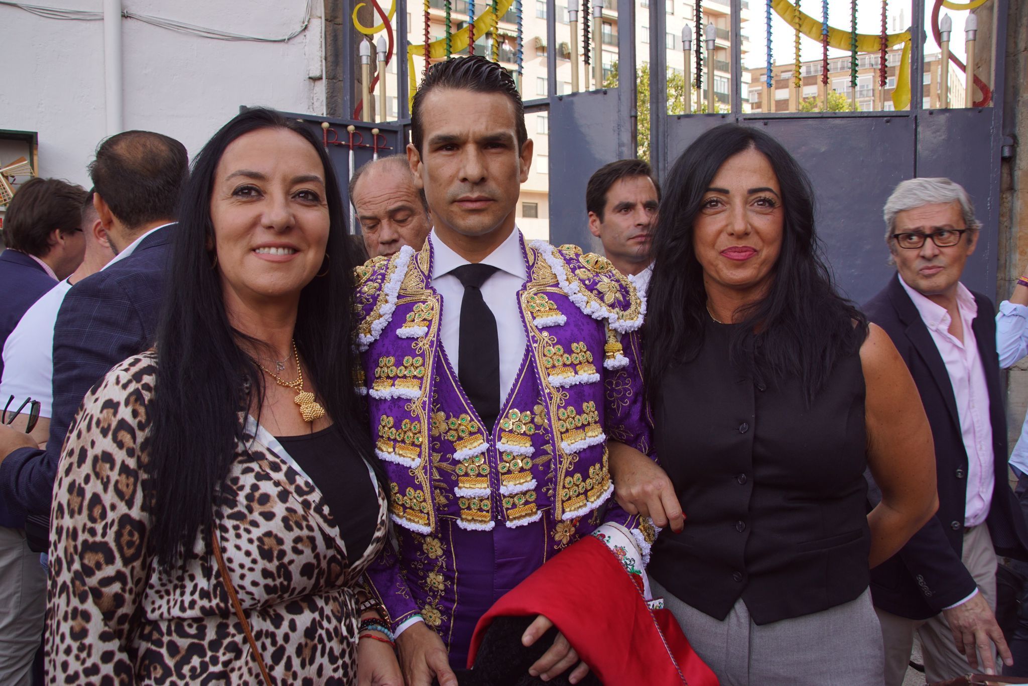
{"label": "black top under the leopard-print wrap dress", "polygon": [[322,492],[353,565],[371,544],[378,521],[378,494],[368,466],[335,425],[302,436],[276,438]]}

